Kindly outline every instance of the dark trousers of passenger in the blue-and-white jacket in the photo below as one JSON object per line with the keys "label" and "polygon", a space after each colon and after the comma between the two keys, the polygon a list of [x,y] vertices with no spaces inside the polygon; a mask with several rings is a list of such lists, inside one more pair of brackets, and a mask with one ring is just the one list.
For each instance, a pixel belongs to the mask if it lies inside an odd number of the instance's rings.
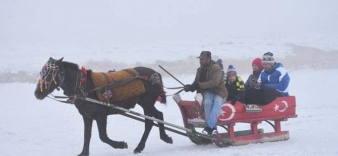
{"label": "dark trousers of passenger in the blue-and-white jacket", "polygon": [[246,104],[267,105],[281,94],[273,88],[262,87],[260,89],[250,88],[245,91]]}

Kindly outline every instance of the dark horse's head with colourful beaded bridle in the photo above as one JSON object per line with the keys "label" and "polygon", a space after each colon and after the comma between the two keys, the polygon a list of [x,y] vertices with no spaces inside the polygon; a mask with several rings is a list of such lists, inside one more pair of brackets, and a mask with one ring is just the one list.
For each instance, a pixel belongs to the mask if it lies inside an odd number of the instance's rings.
{"label": "dark horse's head with colourful beaded bridle", "polygon": [[63,58],[57,60],[50,57],[47,63],[43,65],[34,92],[36,99],[44,99],[48,94],[61,86],[65,75],[62,60]]}

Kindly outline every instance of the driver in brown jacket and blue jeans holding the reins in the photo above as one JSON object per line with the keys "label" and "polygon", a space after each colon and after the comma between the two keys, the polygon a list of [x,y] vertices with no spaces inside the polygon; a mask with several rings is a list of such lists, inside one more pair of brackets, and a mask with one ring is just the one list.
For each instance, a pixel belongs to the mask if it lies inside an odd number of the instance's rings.
{"label": "driver in brown jacket and blue jeans holding the reins", "polygon": [[228,92],[222,79],[222,70],[218,63],[211,59],[210,51],[202,51],[199,58],[195,80],[184,87],[185,92],[202,93],[205,114],[203,133],[213,135],[217,132],[217,118],[222,104],[227,100]]}

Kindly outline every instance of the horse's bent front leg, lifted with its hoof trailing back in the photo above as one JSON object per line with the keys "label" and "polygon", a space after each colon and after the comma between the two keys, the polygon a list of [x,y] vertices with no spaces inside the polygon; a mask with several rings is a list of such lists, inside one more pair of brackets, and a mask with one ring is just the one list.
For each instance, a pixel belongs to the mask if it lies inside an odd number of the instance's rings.
{"label": "horse's bent front leg, lifted with its hoof trailing back", "polygon": [[107,136],[106,127],[107,127],[107,116],[100,116],[96,119],[98,133],[102,142],[109,144],[114,148],[128,148],[128,145],[124,141],[114,141],[110,140]]}

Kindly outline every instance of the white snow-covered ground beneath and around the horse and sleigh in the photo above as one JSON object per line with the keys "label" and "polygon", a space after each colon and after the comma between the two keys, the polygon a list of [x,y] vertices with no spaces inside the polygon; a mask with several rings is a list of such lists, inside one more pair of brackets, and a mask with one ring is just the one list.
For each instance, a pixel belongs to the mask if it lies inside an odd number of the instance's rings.
{"label": "white snow-covered ground beneath and around the horse and sleigh", "polygon": [[[216,145],[196,145],[187,137],[168,132],[174,143],[159,139],[157,127],[153,127],[146,147],[140,155],[337,155],[338,106],[334,88],[338,84],[323,80],[338,79],[338,70],[299,70],[290,73],[290,94],[296,96],[298,114],[282,122],[282,129],[289,130],[290,139],[243,146],[219,148]],[[183,83],[191,83],[194,75],[179,76]],[[179,84],[165,78],[166,86]],[[0,84],[0,147],[1,155],[76,155],[83,144],[83,122],[77,109],[50,99],[36,100],[33,84]],[[172,91],[168,91],[171,93]],[[57,95],[60,92],[55,93]],[[183,100],[193,100],[193,93],[182,93]],[[166,105],[155,106],[164,114],[167,122],[183,126],[182,117],[172,98]],[[137,106],[134,111],[142,112]],[[107,133],[111,139],[124,140],[128,149],[114,149],[100,141],[95,122],[90,143],[91,155],[133,155],[144,124],[120,116],[108,116]],[[249,128],[249,124],[237,124],[235,130]],[[259,128],[272,131],[267,123]]]}

